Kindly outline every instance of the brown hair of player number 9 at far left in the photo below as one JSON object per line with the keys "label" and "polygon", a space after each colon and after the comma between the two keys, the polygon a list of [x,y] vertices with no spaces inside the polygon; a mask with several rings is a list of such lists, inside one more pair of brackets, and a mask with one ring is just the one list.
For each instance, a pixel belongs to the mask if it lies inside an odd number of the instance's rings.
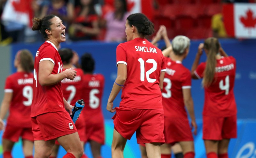
{"label": "brown hair of player number 9 at far left", "polygon": [[22,49],[19,53],[19,60],[22,69],[25,72],[31,72],[34,68],[33,55],[28,49]]}

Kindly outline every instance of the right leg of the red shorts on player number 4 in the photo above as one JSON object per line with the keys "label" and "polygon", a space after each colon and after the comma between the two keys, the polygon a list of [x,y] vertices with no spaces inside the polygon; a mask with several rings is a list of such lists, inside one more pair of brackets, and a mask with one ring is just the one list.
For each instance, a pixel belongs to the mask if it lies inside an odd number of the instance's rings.
{"label": "right leg of the red shorts on player number 4", "polygon": [[236,115],[226,117],[222,126],[222,139],[230,139],[237,137]]}

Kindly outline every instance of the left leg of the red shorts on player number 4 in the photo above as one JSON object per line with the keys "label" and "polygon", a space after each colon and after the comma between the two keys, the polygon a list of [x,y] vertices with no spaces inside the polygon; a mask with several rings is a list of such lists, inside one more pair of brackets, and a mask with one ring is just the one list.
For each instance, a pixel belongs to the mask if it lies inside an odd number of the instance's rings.
{"label": "left leg of the red shorts on player number 4", "polygon": [[203,116],[203,139],[222,140],[223,117]]}

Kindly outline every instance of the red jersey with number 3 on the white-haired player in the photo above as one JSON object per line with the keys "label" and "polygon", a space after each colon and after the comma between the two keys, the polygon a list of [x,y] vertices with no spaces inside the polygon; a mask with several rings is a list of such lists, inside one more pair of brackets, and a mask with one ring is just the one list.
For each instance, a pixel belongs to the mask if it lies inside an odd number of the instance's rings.
{"label": "red jersey with number 3 on the white-haired player", "polygon": [[162,103],[165,117],[187,118],[182,89],[191,89],[191,73],[180,61],[165,57]]}

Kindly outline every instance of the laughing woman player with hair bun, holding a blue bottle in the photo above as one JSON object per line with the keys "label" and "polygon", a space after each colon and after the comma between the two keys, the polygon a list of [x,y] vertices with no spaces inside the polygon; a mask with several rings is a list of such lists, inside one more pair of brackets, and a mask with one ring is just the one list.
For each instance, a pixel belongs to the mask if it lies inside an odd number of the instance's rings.
{"label": "laughing woman player with hair bun, holding a blue bottle", "polygon": [[73,106],[63,98],[61,86],[61,80],[74,80],[76,76],[76,70],[71,68],[62,71],[58,53],[60,42],[66,40],[66,27],[55,15],[32,21],[32,30],[39,30],[46,39],[36,52],[34,65],[31,120],[35,157],[49,157],[55,140],[67,151],[64,158],[81,157],[83,147],[70,117]]}

